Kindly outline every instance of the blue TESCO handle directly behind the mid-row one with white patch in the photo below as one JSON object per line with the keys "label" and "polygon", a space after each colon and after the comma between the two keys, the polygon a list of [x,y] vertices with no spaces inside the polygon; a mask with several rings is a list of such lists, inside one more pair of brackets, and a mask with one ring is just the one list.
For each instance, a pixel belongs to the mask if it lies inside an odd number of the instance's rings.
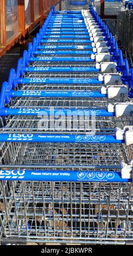
{"label": "blue TESCO handle directly behind the mid-row one with white patch", "polygon": [[54,43],[76,43],[76,44],[92,44],[92,41],[90,41],[89,39],[43,39],[39,41],[40,43],[48,43],[48,42],[54,42]]}

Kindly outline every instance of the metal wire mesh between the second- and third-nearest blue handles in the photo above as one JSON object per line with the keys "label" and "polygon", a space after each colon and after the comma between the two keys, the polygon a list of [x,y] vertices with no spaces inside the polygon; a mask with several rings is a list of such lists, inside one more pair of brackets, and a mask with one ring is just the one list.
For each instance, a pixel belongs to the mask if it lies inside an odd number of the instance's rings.
{"label": "metal wire mesh between the second- and third-nearest blue handles", "polygon": [[[59,119],[59,114],[54,116],[51,126],[51,117],[45,114],[38,114],[38,117],[26,117],[19,116],[12,117],[8,120],[8,124],[1,128],[1,132],[90,132],[93,129],[93,125],[96,126],[96,133],[104,134],[115,134],[115,127],[123,128],[125,124],[132,125],[132,118],[126,119],[116,119],[115,117],[96,117],[96,120],[93,120],[92,117],[81,117],[77,115],[76,117],[71,115],[63,116],[62,119]],[[123,126],[124,125],[124,126]]]}

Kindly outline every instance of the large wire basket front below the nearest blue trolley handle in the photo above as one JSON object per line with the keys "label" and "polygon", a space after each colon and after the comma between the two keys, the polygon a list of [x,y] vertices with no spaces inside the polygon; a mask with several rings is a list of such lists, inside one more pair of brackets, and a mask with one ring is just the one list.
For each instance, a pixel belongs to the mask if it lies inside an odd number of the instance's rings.
{"label": "large wire basket front below the nearest blue trolley handle", "polygon": [[6,235],[61,243],[132,239],[131,184],[2,181],[0,195]]}

